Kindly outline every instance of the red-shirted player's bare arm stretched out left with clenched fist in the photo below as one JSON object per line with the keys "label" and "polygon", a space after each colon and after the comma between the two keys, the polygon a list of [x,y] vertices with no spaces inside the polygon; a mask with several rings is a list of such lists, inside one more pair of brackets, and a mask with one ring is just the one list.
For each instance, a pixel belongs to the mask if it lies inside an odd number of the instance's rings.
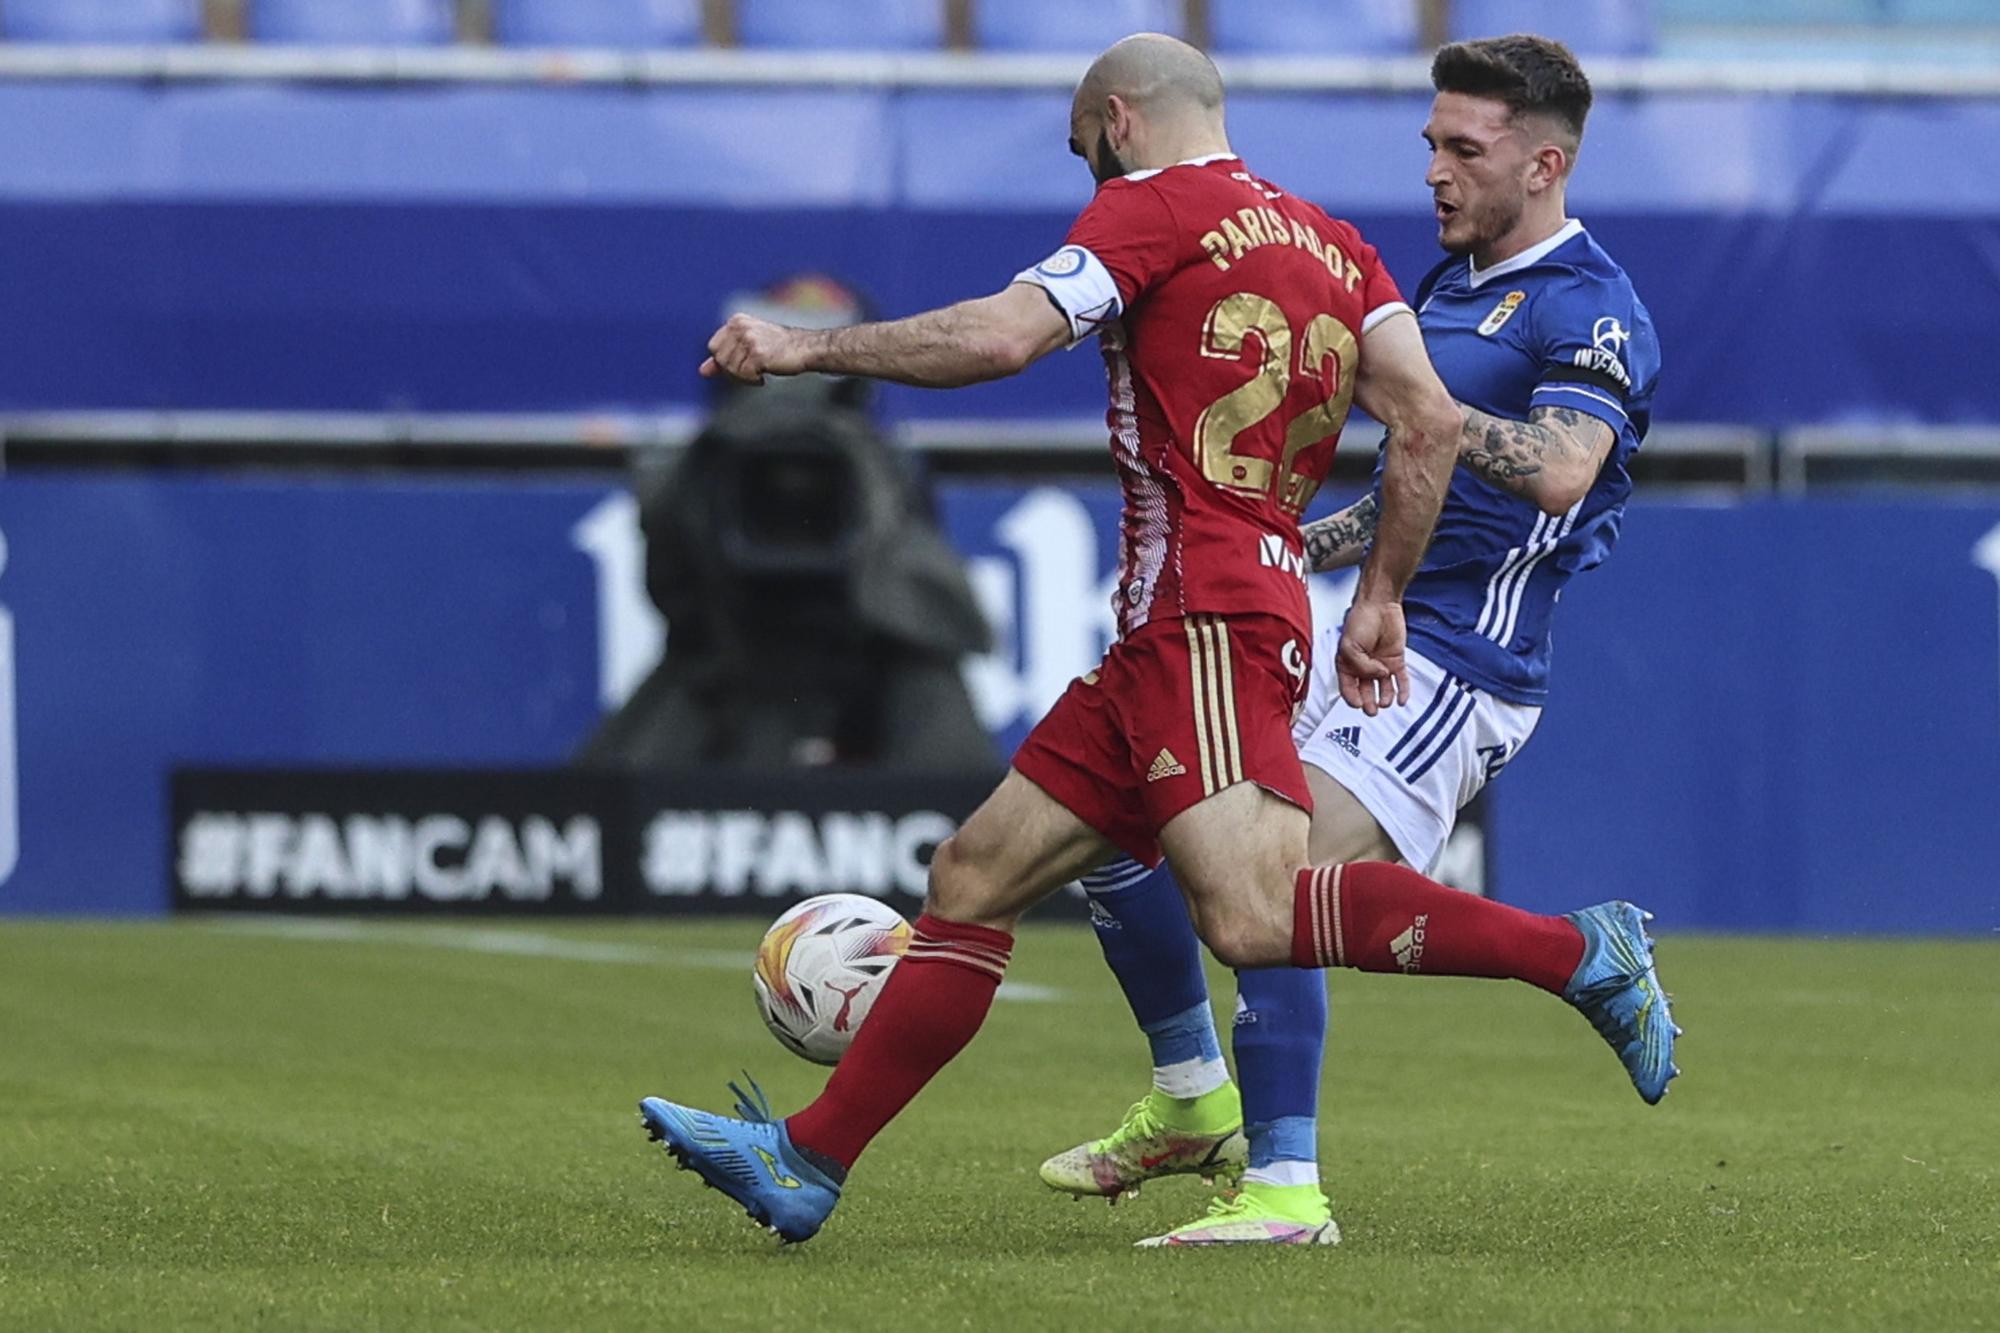
{"label": "red-shirted player's bare arm stretched out left with clenched fist", "polygon": [[1070,342],[1070,320],[1026,282],[906,320],[788,328],[732,314],[708,340],[704,376],[762,384],[766,374],[862,374],[918,388],[958,388],[1018,374]]}

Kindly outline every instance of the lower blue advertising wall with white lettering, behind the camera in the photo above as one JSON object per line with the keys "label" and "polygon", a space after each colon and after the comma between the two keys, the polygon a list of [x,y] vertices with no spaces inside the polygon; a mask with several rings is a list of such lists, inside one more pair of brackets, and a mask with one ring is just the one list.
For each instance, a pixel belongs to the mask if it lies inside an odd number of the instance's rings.
{"label": "lower blue advertising wall with white lettering, behind the camera", "polygon": [[[938,492],[998,632],[966,669],[998,763],[1104,644],[1116,494]],[[560,767],[670,642],[602,482],[26,474],[0,534],[0,913],[164,911],[176,769]],[[1996,610],[1990,498],[1638,500],[1564,598],[1494,883],[1680,927],[2000,929]],[[218,809],[302,811],[280,787]],[[438,801],[354,809],[482,813]]]}

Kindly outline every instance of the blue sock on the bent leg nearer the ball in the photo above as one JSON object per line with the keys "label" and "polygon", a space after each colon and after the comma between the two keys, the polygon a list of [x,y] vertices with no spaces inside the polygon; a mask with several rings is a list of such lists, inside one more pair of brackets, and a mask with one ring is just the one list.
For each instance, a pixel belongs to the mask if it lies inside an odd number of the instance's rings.
{"label": "blue sock on the bent leg nearer the ball", "polygon": [[1200,1097],[1228,1083],[1202,943],[1180,885],[1164,865],[1114,861],[1086,875],[1084,891],[1104,961],[1152,1047],[1152,1085],[1168,1097]]}

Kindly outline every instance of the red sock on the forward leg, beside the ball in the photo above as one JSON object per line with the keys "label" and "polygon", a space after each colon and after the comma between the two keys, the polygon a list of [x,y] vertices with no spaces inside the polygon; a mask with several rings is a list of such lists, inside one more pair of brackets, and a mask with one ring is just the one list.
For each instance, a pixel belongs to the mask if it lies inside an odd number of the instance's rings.
{"label": "red sock on the forward leg, beside the ball", "polygon": [[916,919],[902,963],[826,1091],[786,1119],[792,1143],[852,1167],[868,1141],[980,1031],[1014,953],[1006,931]]}

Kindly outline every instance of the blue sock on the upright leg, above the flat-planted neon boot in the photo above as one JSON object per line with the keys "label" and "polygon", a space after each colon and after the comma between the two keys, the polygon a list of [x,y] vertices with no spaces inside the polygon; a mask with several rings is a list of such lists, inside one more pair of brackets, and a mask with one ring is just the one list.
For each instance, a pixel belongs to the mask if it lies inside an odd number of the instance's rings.
{"label": "blue sock on the upright leg, above the flat-planted neon boot", "polygon": [[1248,1181],[1320,1179],[1320,1059],[1326,1053],[1326,973],[1262,967],[1236,973],[1236,1077],[1250,1139]]}

